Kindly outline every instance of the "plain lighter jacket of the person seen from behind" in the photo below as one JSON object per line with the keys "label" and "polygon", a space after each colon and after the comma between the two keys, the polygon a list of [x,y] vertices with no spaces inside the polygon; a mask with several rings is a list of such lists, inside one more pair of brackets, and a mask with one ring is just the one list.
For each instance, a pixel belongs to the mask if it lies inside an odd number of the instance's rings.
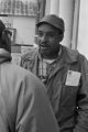
{"label": "plain lighter jacket of the person seen from behind", "polygon": [[59,132],[43,84],[0,51],[0,132]]}

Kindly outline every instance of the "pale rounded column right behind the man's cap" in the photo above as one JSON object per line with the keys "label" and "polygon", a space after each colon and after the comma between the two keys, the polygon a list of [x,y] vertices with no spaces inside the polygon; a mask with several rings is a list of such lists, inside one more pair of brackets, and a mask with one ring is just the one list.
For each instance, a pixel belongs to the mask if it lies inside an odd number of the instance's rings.
{"label": "pale rounded column right behind the man's cap", "polygon": [[65,21],[63,45],[70,47],[74,22],[74,0],[59,0],[59,16],[62,16]]}

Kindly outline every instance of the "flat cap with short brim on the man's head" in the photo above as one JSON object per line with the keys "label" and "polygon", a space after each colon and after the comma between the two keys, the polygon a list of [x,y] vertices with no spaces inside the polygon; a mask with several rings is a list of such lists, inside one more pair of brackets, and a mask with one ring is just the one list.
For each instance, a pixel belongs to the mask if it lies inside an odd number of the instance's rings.
{"label": "flat cap with short brim on the man's head", "polygon": [[51,24],[62,32],[65,31],[64,20],[55,14],[45,15],[38,23],[36,23],[36,26],[38,28],[43,23]]}

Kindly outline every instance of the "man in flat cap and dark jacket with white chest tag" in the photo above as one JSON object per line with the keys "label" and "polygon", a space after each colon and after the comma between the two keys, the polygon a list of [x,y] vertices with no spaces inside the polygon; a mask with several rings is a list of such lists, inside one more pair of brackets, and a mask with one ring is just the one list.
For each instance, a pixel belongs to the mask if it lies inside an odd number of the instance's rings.
{"label": "man in flat cap and dark jacket with white chest tag", "polygon": [[38,48],[21,57],[21,66],[46,86],[61,132],[88,132],[88,61],[61,44],[65,23],[55,14],[37,24]]}

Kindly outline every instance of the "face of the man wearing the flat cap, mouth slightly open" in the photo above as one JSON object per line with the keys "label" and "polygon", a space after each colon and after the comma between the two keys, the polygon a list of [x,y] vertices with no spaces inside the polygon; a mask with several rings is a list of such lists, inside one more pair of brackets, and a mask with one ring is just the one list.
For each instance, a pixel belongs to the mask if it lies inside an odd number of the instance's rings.
{"label": "face of the man wearing the flat cap, mouth slightly open", "polygon": [[43,23],[38,26],[38,47],[45,56],[52,56],[59,46],[59,32],[50,24]]}

